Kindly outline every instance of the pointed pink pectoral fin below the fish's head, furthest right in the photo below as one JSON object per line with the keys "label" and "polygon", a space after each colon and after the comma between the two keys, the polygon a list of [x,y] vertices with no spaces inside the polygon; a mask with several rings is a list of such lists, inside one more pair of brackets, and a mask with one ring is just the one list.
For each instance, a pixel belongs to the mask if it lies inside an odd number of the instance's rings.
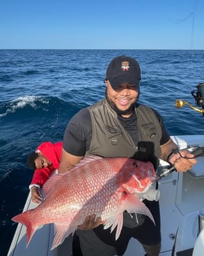
{"label": "pointed pink pectoral fin below the fish's head, furthest right", "polygon": [[127,212],[147,215],[151,219],[151,221],[154,222],[154,224],[155,224],[155,220],[154,220],[150,210],[148,209],[147,206],[145,206],[145,203],[142,203],[142,201],[140,201],[140,199],[137,196],[134,196],[134,195],[128,193],[126,195],[126,200],[125,200],[124,205],[125,205],[124,207],[126,208]]}

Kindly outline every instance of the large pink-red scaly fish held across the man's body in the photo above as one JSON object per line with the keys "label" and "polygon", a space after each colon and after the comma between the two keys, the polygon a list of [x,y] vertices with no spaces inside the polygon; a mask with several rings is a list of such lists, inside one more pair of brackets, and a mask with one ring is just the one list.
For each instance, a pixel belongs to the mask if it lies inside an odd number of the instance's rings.
{"label": "large pink-red scaly fish held across the man's body", "polygon": [[116,239],[123,227],[123,212],[147,215],[155,223],[142,195],[157,180],[151,162],[126,157],[84,157],[67,173],[55,174],[44,184],[45,199],[34,209],[15,215],[12,220],[27,227],[29,245],[42,225],[54,224],[53,248],[74,234],[88,215],[105,220],[104,228],[116,228]]}

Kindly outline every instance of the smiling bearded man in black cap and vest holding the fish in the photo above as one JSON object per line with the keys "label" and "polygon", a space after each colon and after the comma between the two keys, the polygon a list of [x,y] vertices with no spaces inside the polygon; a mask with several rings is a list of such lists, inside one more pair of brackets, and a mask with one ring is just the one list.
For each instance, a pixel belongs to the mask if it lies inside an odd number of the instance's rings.
{"label": "smiling bearded man in black cap and vest holding the fish", "polygon": [[[108,68],[106,97],[86,109],[81,109],[65,129],[59,173],[65,173],[84,155],[101,157],[134,157],[151,160],[157,167],[158,158],[168,160],[178,171],[189,170],[195,159],[186,151],[177,154],[161,116],[154,109],[139,105],[139,63],[132,57],[114,58]],[[68,143],[69,141],[69,143]],[[100,170],[103,171],[103,170]],[[138,239],[148,256],[158,256],[161,248],[158,202],[143,201],[150,209],[156,225],[145,215],[123,213],[123,228],[115,241],[115,231],[104,230],[105,220],[88,216],[78,227],[84,256],[123,255],[130,238]]]}

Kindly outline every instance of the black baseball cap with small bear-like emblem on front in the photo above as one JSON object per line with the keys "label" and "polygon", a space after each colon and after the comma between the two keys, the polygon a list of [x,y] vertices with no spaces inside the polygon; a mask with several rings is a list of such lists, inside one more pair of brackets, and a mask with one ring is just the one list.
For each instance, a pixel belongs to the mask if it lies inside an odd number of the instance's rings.
{"label": "black baseball cap with small bear-like emblem on front", "polygon": [[116,89],[121,83],[131,83],[135,87],[139,87],[141,79],[139,63],[125,55],[115,57],[107,67],[106,79],[110,81],[113,89]]}

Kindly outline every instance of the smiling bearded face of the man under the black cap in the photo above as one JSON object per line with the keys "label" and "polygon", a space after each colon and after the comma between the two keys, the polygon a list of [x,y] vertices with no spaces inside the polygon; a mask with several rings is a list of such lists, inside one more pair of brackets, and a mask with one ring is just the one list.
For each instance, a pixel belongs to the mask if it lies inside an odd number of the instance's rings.
{"label": "smiling bearded face of the man under the black cap", "polygon": [[129,83],[123,83],[117,89],[113,89],[108,80],[106,84],[106,97],[111,108],[123,117],[129,117],[139,97],[139,89]]}

